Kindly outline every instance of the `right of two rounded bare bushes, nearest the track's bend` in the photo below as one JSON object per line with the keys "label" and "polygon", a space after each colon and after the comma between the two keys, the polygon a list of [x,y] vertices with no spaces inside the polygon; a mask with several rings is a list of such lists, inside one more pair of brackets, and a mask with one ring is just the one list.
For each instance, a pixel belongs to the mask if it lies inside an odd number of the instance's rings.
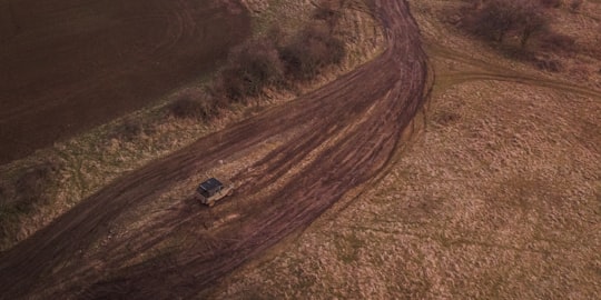
{"label": "right of two rounded bare bushes, nearest the track's bend", "polygon": [[292,43],[280,49],[286,73],[300,80],[315,78],[323,67],[339,63],[345,53],[344,42],[318,26],[307,27]]}

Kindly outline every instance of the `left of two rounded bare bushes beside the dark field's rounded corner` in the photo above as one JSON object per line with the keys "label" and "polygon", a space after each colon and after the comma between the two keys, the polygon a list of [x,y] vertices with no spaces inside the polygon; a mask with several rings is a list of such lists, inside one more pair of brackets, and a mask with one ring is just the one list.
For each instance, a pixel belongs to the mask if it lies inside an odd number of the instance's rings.
{"label": "left of two rounded bare bushes beside the dark field's rounded corner", "polygon": [[259,96],[265,87],[278,84],[283,78],[284,67],[275,46],[256,39],[230,52],[215,88],[230,100],[245,102],[247,97]]}

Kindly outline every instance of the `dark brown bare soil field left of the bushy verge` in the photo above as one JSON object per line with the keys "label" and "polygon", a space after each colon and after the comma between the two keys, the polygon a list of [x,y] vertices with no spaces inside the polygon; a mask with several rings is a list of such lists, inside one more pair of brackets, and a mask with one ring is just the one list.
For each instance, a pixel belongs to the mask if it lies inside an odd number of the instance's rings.
{"label": "dark brown bare soil field left of the bushy verge", "polygon": [[234,1],[0,2],[0,163],[157,100],[249,33]]}

